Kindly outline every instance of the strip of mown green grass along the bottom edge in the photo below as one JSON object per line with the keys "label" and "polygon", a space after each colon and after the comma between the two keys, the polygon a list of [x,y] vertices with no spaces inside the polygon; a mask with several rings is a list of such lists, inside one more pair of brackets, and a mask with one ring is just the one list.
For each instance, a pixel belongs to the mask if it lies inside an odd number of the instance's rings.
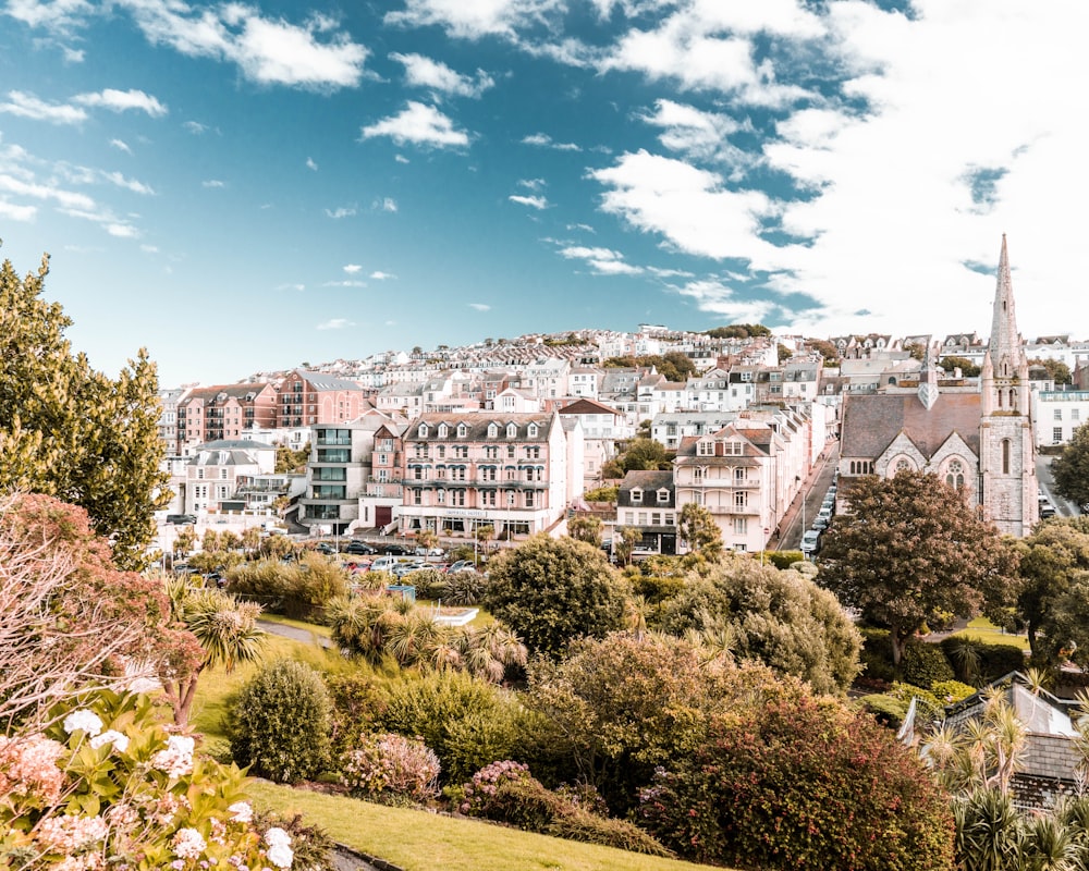
{"label": "strip of mown green grass along the bottom edge", "polygon": [[641,856],[521,832],[478,820],[388,808],[344,796],[250,781],[249,797],[283,813],[302,813],[334,841],[405,871],[686,871],[709,866]]}

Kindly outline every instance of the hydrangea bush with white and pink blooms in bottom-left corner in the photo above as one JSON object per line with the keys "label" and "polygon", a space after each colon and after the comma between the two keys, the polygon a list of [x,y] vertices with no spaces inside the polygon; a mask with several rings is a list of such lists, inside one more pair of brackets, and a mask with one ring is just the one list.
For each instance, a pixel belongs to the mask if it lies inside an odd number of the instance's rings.
{"label": "hydrangea bush with white and pink blooms in bottom-left corner", "polygon": [[287,834],[254,830],[237,768],[194,756],[146,696],[82,702],[45,734],[0,738],[0,868],[291,868]]}

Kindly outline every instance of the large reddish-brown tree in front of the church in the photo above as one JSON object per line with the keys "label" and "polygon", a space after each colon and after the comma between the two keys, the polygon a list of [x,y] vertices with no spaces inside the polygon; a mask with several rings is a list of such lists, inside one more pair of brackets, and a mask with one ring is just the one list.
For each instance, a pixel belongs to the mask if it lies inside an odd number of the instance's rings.
{"label": "large reddish-brown tree in front of the church", "polygon": [[822,586],[890,629],[893,662],[923,625],[987,610],[1004,619],[1014,549],[935,475],[854,481],[848,512],[824,533]]}

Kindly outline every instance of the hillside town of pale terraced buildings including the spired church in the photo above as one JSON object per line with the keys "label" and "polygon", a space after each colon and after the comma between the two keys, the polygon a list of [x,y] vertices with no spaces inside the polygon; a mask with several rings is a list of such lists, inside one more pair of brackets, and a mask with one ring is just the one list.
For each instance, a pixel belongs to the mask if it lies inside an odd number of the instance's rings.
{"label": "hillside town of pale terraced buildings including the spired church", "polygon": [[[909,468],[1025,536],[1038,454],[1089,420],[1089,341],[1025,340],[1014,302],[1003,238],[988,338],[640,324],[162,390],[174,490],[162,514],[276,505],[311,535],[456,541],[488,526],[517,542],[589,512],[607,539],[635,529],[638,553],[674,554],[678,513],[695,503],[726,548],[757,552],[784,543],[822,469],[844,482],[842,504],[853,478]],[[660,467],[617,464],[637,439],[664,449]],[[305,473],[278,471],[278,446],[308,450]],[[619,488],[611,505],[587,499],[607,483]],[[792,522],[788,543],[804,531]]]}

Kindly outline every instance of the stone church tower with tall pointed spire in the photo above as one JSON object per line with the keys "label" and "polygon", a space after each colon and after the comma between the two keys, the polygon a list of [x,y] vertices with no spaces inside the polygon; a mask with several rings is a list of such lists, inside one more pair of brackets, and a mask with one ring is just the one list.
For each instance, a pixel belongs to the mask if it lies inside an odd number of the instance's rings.
{"label": "stone church tower with tall pointed spire", "polygon": [[991,339],[983,357],[979,389],[980,503],[999,531],[1020,538],[1027,536],[1037,522],[1039,484],[1028,361],[1017,333],[1005,235],[999,257]]}

